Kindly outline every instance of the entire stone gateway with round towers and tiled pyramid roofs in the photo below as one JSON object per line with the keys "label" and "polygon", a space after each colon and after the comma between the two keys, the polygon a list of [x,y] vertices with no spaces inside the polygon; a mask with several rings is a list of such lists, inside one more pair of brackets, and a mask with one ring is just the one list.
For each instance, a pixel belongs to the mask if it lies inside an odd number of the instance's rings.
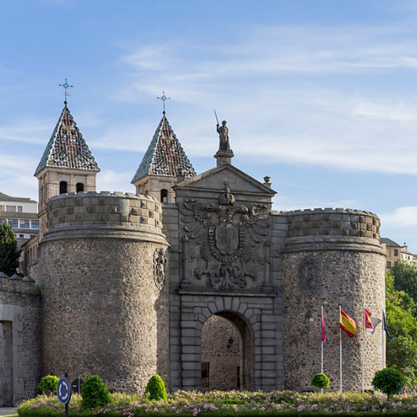
{"label": "entire stone gateway with round towers and tiled pyramid roofs", "polygon": [[250,177],[233,156],[227,131],[216,166],[196,174],[164,112],[136,193],[97,192],[99,167],[65,103],[35,172],[40,236],[24,248],[37,254],[28,288],[0,278],[3,399],[16,404],[43,375],[65,372],[139,393],[154,373],[170,391],[311,389],[321,306],[336,390],[339,305],[358,322],[354,338],[342,335],[343,390],[361,390],[363,338],[372,388],[381,337],[361,320],[385,302],[379,218],[275,211],[269,177]]}

